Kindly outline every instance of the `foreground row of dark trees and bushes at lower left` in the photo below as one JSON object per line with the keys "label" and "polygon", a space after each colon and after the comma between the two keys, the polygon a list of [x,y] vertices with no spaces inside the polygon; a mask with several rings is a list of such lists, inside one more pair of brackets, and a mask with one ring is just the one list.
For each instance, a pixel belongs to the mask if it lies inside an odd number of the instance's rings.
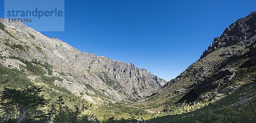
{"label": "foreground row of dark trees and bushes at lower left", "polygon": [[0,122],[25,123],[97,123],[96,117],[82,114],[91,107],[83,102],[70,108],[65,105],[61,96],[45,109],[48,101],[41,93],[40,87],[26,87],[23,89],[5,88],[0,92]]}

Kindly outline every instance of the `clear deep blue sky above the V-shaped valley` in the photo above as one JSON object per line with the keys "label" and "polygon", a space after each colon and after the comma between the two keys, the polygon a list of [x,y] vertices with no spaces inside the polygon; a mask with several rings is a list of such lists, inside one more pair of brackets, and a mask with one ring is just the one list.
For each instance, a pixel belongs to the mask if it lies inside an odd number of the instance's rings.
{"label": "clear deep blue sky above the V-shaped valley", "polygon": [[256,0],[65,0],[65,31],[41,33],[169,81],[252,11]]}

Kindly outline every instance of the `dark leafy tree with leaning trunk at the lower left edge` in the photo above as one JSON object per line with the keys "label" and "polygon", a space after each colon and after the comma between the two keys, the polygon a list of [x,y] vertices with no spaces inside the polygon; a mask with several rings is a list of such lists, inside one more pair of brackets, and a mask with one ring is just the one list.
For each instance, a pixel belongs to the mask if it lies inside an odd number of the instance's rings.
{"label": "dark leafy tree with leaning trunk at the lower left edge", "polygon": [[42,88],[31,86],[25,89],[9,89],[4,88],[0,92],[0,105],[3,109],[9,111],[10,107],[16,107],[15,109],[20,109],[22,113],[20,119],[17,123],[23,120],[26,112],[32,109],[40,109],[47,104],[47,100],[41,95],[43,91]]}

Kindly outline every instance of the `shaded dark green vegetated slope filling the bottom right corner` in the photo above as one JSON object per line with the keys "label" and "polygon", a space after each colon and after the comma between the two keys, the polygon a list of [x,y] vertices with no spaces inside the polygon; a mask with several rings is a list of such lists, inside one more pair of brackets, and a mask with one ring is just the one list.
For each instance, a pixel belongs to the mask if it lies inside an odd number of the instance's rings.
{"label": "shaded dark green vegetated slope filling the bottom right corner", "polygon": [[256,90],[255,83],[241,87],[233,94],[209,104],[201,109],[181,115],[169,115],[148,120],[147,123],[173,123],[173,122],[193,122],[193,123],[253,123],[256,121]]}

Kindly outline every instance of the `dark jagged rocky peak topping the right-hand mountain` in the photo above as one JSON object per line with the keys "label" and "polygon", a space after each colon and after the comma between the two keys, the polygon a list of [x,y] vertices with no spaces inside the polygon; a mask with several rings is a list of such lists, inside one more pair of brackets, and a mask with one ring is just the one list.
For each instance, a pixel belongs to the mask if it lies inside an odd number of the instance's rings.
{"label": "dark jagged rocky peak topping the right-hand mountain", "polygon": [[204,51],[200,59],[212,51],[232,45],[247,46],[256,40],[256,11],[251,12],[247,17],[240,18],[226,28],[220,37],[216,37],[212,45]]}

